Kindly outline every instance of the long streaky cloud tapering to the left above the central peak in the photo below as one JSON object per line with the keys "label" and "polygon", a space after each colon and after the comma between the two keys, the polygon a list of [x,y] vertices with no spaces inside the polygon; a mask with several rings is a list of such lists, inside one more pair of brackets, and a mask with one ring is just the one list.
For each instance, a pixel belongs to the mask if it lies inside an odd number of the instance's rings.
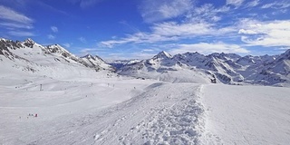
{"label": "long streaky cloud tapering to the left above the central peak", "polygon": [[237,32],[236,28],[224,27],[214,28],[213,24],[208,23],[189,23],[177,24],[175,22],[154,24],[150,27],[150,33],[128,34],[126,37],[118,40],[109,40],[99,43],[100,46],[113,47],[123,43],[157,43],[167,41],[178,41],[185,38],[193,38],[203,35],[217,36]]}

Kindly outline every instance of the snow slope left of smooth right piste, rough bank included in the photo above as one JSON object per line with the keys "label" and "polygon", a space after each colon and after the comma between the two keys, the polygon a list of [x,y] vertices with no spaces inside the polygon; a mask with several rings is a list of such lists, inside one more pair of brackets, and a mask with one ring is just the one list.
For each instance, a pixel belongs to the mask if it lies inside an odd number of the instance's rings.
{"label": "snow slope left of smooth right piste, rough bank included", "polygon": [[2,144],[200,141],[203,110],[198,84],[117,77],[90,82],[46,80],[39,91],[34,83],[39,82],[1,85]]}

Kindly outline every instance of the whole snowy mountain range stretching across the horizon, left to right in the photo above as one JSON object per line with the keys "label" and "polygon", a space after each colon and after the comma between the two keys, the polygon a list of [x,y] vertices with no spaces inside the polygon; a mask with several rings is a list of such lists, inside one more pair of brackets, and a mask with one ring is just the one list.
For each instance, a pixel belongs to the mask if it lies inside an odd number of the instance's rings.
{"label": "whole snowy mountain range stretching across the horizon, left to right", "polygon": [[160,52],[147,60],[106,63],[99,56],[75,56],[59,44],[43,46],[32,39],[24,42],[0,39],[3,75],[39,75],[52,78],[118,73],[166,82],[262,84],[289,86],[290,50],[279,55],[240,56],[236,53]]}

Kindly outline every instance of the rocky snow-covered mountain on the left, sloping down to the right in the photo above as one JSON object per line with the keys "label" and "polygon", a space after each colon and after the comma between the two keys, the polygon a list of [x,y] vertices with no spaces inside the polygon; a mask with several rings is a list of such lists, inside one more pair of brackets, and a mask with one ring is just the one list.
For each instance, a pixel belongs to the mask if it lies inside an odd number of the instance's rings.
{"label": "rocky snow-covered mountain on the left, sloping down to the right", "polygon": [[75,56],[59,44],[43,46],[32,39],[24,42],[0,39],[1,73],[30,73],[40,76],[75,77],[99,71],[114,72],[114,68],[98,57]]}

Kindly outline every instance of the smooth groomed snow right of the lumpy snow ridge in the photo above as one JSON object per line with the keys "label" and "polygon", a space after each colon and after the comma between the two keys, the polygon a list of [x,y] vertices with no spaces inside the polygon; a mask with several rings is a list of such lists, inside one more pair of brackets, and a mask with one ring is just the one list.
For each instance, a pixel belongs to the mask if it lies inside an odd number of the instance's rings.
{"label": "smooth groomed snow right of the lumpy snow ridge", "polygon": [[206,144],[290,142],[290,89],[266,86],[205,85]]}

